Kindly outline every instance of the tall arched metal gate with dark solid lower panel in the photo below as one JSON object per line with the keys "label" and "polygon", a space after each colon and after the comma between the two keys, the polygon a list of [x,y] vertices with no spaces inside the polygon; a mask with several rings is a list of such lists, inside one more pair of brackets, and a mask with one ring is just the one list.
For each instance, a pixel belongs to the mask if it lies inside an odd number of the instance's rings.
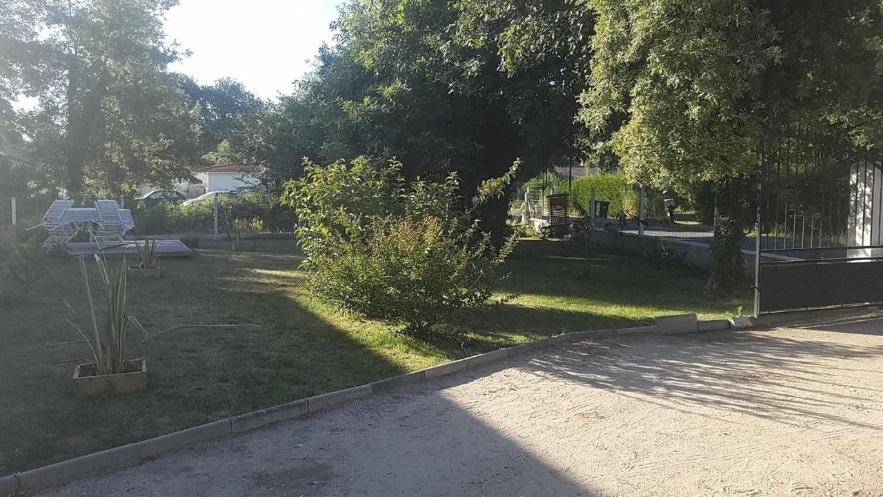
{"label": "tall arched metal gate with dark solid lower panel", "polygon": [[830,135],[760,148],[755,314],[883,302],[883,167]]}

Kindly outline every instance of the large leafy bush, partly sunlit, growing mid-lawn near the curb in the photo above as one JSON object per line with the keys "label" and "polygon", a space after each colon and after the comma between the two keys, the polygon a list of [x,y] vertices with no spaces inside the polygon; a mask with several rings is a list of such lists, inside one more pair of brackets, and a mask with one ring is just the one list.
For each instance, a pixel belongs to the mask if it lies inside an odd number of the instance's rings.
{"label": "large leafy bush, partly sunlit, growing mid-lawn near the curb", "polygon": [[286,184],[283,200],[298,217],[314,294],[407,333],[426,333],[493,294],[517,238],[495,248],[476,212],[502,195],[515,166],[485,181],[467,208],[453,173],[409,184],[401,164],[384,167],[367,157],[304,169],[302,180]]}

